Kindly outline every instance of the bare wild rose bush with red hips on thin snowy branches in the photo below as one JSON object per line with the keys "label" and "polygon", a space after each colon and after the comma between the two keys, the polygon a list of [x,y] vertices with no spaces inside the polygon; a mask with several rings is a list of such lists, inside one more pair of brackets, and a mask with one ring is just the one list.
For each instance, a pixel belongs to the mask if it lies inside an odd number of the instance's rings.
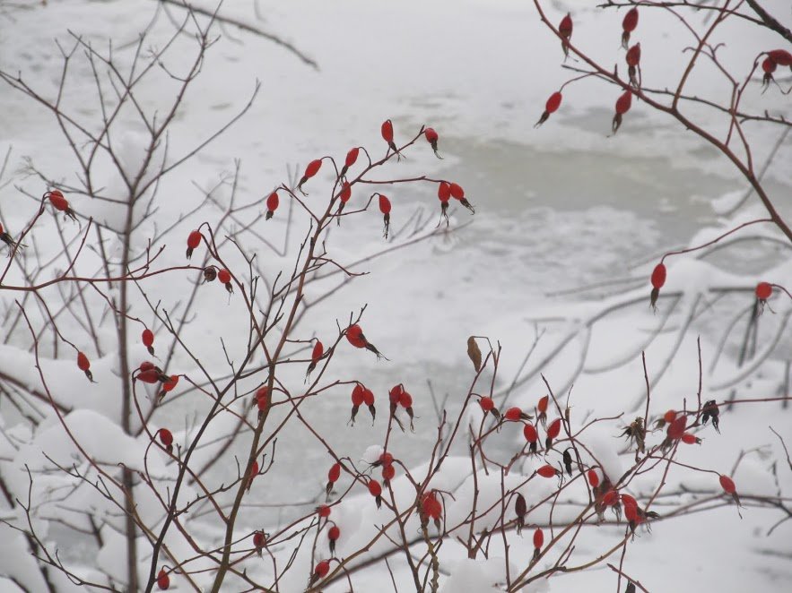
{"label": "bare wild rose bush with red hips on thin snowy branches", "polygon": [[[716,19],[732,18],[727,4]],[[683,84],[672,107],[641,87],[640,46],[631,45],[640,35],[636,15],[633,6],[622,21],[626,79],[585,58],[571,15],[557,29],[551,25],[561,38],[560,57],[578,56],[592,68],[583,76],[622,87],[612,133],[624,133],[639,99],[694,125],[676,107]],[[76,171],[70,184],[31,161],[25,187],[39,189],[21,202],[26,222],[0,231],[9,254],[0,277],[7,336],[0,366],[6,395],[0,562],[7,580],[22,590],[51,591],[363,590],[391,581],[396,590],[529,591],[606,566],[617,590],[648,590],[625,556],[653,525],[722,506],[734,507],[735,520],[750,507],[789,515],[783,464],[770,486],[755,467],[745,471],[750,453],[731,457],[746,439],[745,420],[726,411],[750,404],[753,414],[767,414],[788,394],[718,397],[705,382],[702,361],[711,352],[701,340],[688,357],[692,372],[677,375],[674,387],[682,383],[683,395],[656,389],[667,365],[653,373],[651,355],[641,352],[646,345],[632,353],[645,383],[639,401],[589,405],[602,394],[581,393],[585,403],[574,408],[578,391],[559,389],[543,374],[553,363],[569,364],[563,353],[569,339],[529,352],[526,360],[538,361],[504,386],[497,337],[472,335],[453,353],[470,359],[468,389],[446,407],[419,387],[401,353],[366,329],[365,303],[352,313],[329,305],[341,290],[354,298],[360,272],[351,262],[368,263],[377,274],[379,254],[453,232],[457,212],[481,207],[452,179],[398,174],[403,158],[441,156],[440,128],[408,133],[385,119],[378,145],[317,155],[293,179],[273,180],[264,191],[242,188],[238,163],[217,185],[199,188],[195,205],[174,208],[172,196],[186,190],[172,171],[230,133],[258,91],[201,145],[173,152],[169,133],[211,56],[215,18],[199,21],[187,12],[169,44],[148,55],[140,39],[131,59],[75,38],[56,99],[22,75],[0,73],[54,116]],[[700,41],[697,56],[716,55],[706,37]],[[194,44],[187,73],[170,70],[169,52],[187,44]],[[766,85],[785,56],[783,50],[757,56]],[[767,60],[775,67],[765,67]],[[80,61],[93,73],[98,122],[81,115],[80,99],[68,99],[67,66]],[[746,84],[752,74],[745,74]],[[170,90],[170,103],[146,97],[144,83]],[[562,90],[550,95],[539,125],[553,123]],[[741,117],[779,124],[771,115]],[[129,119],[144,132],[130,132]],[[743,137],[740,120],[731,121],[729,134]],[[663,254],[639,288],[606,302],[606,310],[640,300],[642,314],[669,322],[671,299],[684,303],[686,290],[669,290],[666,281],[693,272],[666,268],[666,260],[729,245],[754,224],[792,239],[779,212],[768,208],[772,201],[753,165],[728,142],[718,148],[739,161],[769,218],[709,231]],[[431,195],[431,222],[406,211],[397,197],[402,188]],[[352,258],[344,239],[353,236],[344,233],[372,226],[383,251]],[[770,316],[760,317],[763,307],[787,306],[784,270],[778,281],[738,288],[749,295],[753,324]],[[310,326],[309,311],[316,310],[335,331]],[[603,316],[588,314],[583,325]],[[218,324],[227,331],[217,332]],[[578,331],[579,324],[570,335]],[[659,341],[660,334],[651,337]],[[367,360],[365,376],[350,376],[349,357]],[[399,367],[404,378],[385,391],[371,389],[379,365]],[[511,400],[515,389],[518,402]],[[312,419],[311,408],[328,397],[348,398],[348,425]],[[369,422],[379,440],[368,448],[333,444],[338,431]],[[278,449],[298,429],[307,435],[300,453],[313,465],[301,467]],[[436,431],[417,466],[403,461],[413,430]],[[786,450],[781,435],[777,447]],[[291,464],[283,471],[295,483],[313,486],[303,491],[275,481],[279,463]],[[317,475],[316,466],[326,474]],[[257,494],[275,488],[291,495],[298,511],[261,524]],[[65,542],[80,542],[83,554],[66,557]]]}

